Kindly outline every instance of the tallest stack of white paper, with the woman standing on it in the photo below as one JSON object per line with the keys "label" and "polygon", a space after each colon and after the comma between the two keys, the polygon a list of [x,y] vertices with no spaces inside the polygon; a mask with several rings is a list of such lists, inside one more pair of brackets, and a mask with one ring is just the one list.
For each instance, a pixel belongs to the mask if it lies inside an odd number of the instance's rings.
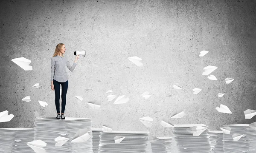
{"label": "tallest stack of white paper, with the woman standing on it", "polygon": [[47,143],[47,153],[92,153],[91,125],[85,118],[35,119],[35,140]]}

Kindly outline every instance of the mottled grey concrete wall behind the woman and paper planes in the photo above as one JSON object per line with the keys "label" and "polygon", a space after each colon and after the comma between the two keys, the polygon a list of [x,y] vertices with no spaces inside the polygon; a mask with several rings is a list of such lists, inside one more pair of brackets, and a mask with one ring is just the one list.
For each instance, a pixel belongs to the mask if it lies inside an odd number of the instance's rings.
{"label": "mottled grey concrete wall behind the woman and paper planes", "polygon": [[[170,136],[159,123],[175,109],[186,113],[174,124],[205,124],[220,130],[226,124],[250,124],[243,111],[256,109],[256,1],[233,0],[1,0],[0,111],[15,115],[0,127],[33,127],[34,111],[56,116],[51,91],[50,59],[58,43],[66,57],[87,50],[69,74],[66,117],[92,118],[93,127],[112,124],[114,130],[150,130]],[[199,52],[209,53],[199,57]],[[139,67],[128,57],[143,59]],[[11,60],[25,57],[33,71]],[[203,76],[203,68],[218,69],[218,81]],[[225,78],[234,78],[225,84]],[[96,82],[101,80],[101,82]],[[40,83],[40,88],[32,88]],[[172,85],[179,83],[182,90]],[[203,89],[193,95],[193,88]],[[86,89],[92,89],[87,92]],[[108,102],[106,91],[126,95],[126,104]],[[149,91],[151,97],[140,96]],[[225,93],[218,98],[219,92]],[[171,95],[170,97],[166,97]],[[31,96],[31,102],[22,102]],[[77,103],[75,96],[83,96]],[[102,101],[100,110],[86,102]],[[49,105],[43,108],[38,100]],[[218,113],[220,104],[232,114]],[[154,111],[160,111],[155,113]],[[138,119],[150,116],[151,128]]]}

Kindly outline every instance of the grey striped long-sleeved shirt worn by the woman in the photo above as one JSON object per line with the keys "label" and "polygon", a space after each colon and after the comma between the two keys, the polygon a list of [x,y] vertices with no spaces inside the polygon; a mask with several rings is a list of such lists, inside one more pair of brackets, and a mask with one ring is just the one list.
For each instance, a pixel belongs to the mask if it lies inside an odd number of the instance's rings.
{"label": "grey striped long-sleeved shirt worn by the woman", "polygon": [[52,57],[52,78],[51,80],[55,79],[58,82],[66,82],[68,80],[66,66],[72,72],[75,67],[76,63],[73,63],[73,66],[70,65],[70,62],[67,61],[65,57],[55,56]]}

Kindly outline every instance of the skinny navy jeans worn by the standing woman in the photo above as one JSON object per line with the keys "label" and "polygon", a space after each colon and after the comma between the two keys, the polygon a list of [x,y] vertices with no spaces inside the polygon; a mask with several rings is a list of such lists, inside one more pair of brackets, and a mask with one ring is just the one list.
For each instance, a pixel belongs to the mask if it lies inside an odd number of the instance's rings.
{"label": "skinny navy jeans worn by the standing woman", "polygon": [[53,79],[54,91],[55,91],[55,106],[57,113],[60,113],[60,89],[61,89],[61,113],[64,113],[66,106],[66,95],[68,80],[66,82],[58,82]]}

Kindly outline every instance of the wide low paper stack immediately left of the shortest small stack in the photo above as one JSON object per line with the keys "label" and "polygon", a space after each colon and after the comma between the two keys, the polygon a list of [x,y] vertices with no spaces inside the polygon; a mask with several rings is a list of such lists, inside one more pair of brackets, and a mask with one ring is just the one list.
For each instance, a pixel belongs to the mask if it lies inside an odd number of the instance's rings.
{"label": "wide low paper stack immediately left of the shortest small stack", "polygon": [[[100,134],[99,153],[151,153],[148,134],[148,131],[103,131]],[[114,139],[116,136],[120,141]]]}

